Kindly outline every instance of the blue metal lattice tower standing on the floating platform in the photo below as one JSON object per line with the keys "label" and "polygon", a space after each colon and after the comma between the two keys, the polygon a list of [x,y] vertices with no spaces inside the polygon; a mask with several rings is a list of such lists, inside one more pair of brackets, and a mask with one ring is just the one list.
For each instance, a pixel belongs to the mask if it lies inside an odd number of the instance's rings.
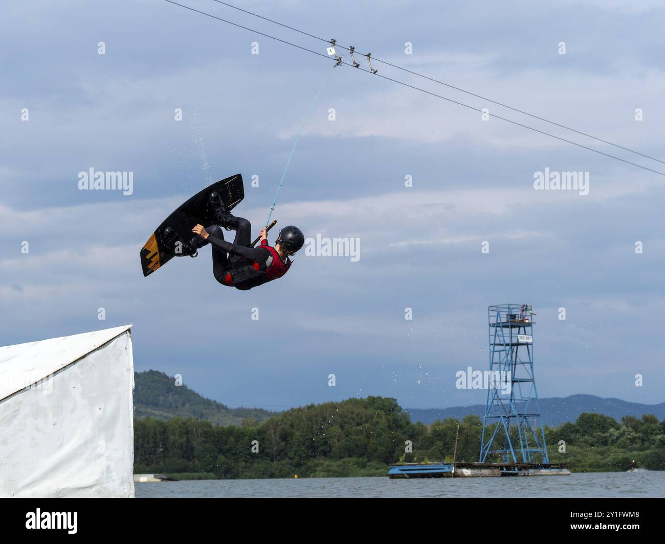
{"label": "blue metal lattice tower standing on the floating platform", "polygon": [[489,388],[481,463],[549,463],[533,377],[533,321],[527,304],[487,308]]}

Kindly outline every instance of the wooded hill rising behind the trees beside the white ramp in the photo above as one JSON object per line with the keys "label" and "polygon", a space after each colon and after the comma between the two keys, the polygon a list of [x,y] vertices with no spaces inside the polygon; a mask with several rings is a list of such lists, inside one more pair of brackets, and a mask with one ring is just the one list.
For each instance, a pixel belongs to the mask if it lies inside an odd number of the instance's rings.
{"label": "wooded hill rising behind the trees beside the white ramp", "polygon": [[156,370],[135,372],[134,416],[160,419],[194,417],[219,425],[241,425],[245,418],[261,422],[279,413],[263,408],[229,408],[201,397],[186,385],[176,387],[174,381],[174,378]]}

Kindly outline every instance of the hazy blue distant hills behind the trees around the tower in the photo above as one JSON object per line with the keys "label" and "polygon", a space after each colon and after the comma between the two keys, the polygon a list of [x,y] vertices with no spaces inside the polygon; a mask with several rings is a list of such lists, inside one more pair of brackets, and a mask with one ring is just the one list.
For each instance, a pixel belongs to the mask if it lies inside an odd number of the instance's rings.
{"label": "hazy blue distant hills behind the trees around the tower", "polygon": [[[570,397],[552,397],[540,399],[543,423],[551,427],[565,422],[575,422],[579,414],[593,412],[604,414],[620,421],[623,416],[642,417],[642,414],[654,414],[659,420],[665,419],[665,403],[659,405],[641,405],[628,403],[620,399],[601,399],[594,395],[571,395]],[[468,414],[483,417],[485,405],[460,406],[453,408],[405,408],[411,420],[425,424],[446,418],[462,419]]]}

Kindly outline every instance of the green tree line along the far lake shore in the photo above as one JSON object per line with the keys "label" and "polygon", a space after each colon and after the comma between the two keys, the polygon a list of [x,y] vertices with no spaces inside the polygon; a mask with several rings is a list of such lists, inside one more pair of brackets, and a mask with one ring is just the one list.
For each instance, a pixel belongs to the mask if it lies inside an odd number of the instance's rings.
{"label": "green tree line along the far lake shore", "polygon": [[[387,476],[394,462],[452,461],[457,426],[454,418],[412,423],[395,399],[383,397],[293,408],[261,422],[248,417],[241,426],[143,417],[134,422],[134,472],[179,480]],[[462,420],[459,462],[478,460],[481,432],[477,416]],[[618,422],[585,413],[545,428],[545,436],[550,462],[573,472],[625,471],[633,459],[639,468],[665,470],[665,420],[653,415]]]}

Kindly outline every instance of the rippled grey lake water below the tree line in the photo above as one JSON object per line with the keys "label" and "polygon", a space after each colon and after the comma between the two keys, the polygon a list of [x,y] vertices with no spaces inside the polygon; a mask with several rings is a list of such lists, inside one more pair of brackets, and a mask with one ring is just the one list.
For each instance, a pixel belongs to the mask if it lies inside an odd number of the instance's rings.
{"label": "rippled grey lake water below the tree line", "polygon": [[136,498],[169,497],[665,497],[665,471],[512,478],[293,478],[136,484]]}

